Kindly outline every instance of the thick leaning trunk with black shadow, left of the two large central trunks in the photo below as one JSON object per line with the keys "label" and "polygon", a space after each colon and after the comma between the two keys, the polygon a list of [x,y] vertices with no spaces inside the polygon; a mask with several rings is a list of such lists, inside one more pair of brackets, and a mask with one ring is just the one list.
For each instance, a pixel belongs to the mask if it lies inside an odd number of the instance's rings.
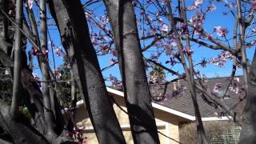
{"label": "thick leaning trunk with black shadow, left of the two large central trunks", "polygon": [[125,143],[118,119],[99,68],[98,59],[78,0],[50,0],[50,12],[58,25],[71,69],[90,115],[99,143]]}

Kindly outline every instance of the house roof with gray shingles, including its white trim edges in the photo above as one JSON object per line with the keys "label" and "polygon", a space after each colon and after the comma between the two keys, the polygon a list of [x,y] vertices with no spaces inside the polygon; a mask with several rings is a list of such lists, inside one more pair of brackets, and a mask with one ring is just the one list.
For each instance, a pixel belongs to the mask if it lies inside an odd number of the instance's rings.
{"label": "house roof with gray shingles, including its white trim edges", "polygon": [[[216,83],[219,83],[221,86],[219,88],[219,91],[222,91],[224,89],[224,86],[226,86],[226,83],[228,82],[228,78],[208,78],[208,82],[206,82],[207,89],[212,91],[214,89],[214,86]],[[239,77],[239,82],[235,83],[237,86],[242,86],[243,79],[242,77]],[[176,87],[176,88],[175,88]],[[180,88],[186,87],[186,82],[179,81],[175,83],[170,83],[166,86],[166,94],[165,94],[165,100],[162,100],[161,102],[152,102],[152,106],[155,109],[165,111],[170,114],[177,115],[182,118],[186,118],[189,121],[194,121],[194,106],[192,99],[190,97],[188,89],[182,90],[182,92],[176,94],[175,91],[179,91]],[[150,91],[153,97],[159,97],[159,94],[161,94],[161,90],[158,90],[158,86],[150,87]],[[176,89],[176,90],[175,90]],[[122,91],[114,90],[110,87],[106,87],[106,90],[109,94],[115,94],[120,97],[124,97],[124,94]],[[238,114],[242,114],[244,101],[240,102],[239,96],[241,94],[236,94],[234,91],[228,90],[229,98],[225,98],[224,101],[227,103],[228,106],[230,106],[231,109],[234,109],[235,112]],[[198,106],[199,110],[201,112],[202,121],[213,121],[213,120],[228,120],[230,117],[218,116],[218,111],[220,111],[218,108],[214,108],[213,106],[210,106],[207,104],[200,94],[198,94]],[[81,106],[83,104],[82,100],[78,101],[77,105]]]}

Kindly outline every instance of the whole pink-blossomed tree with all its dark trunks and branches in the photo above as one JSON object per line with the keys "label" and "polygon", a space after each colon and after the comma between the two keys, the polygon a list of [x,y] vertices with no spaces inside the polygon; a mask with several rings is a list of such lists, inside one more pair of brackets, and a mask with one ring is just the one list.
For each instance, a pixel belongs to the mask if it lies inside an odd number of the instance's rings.
{"label": "whole pink-blossomed tree with all its dark trunks and branches", "polygon": [[[95,10],[97,5],[106,9]],[[0,93],[0,142],[82,143],[81,129],[71,120],[78,89],[98,142],[125,143],[102,76],[118,65],[121,78],[117,72],[107,76],[125,93],[134,143],[159,143],[151,101],[168,97],[151,97],[150,86],[180,79],[187,88],[179,87],[175,94],[190,91],[199,143],[208,139],[197,97],[242,126],[240,143],[255,143],[255,9],[256,2],[246,0],[0,0],[0,81],[13,84],[12,90],[0,89],[5,92]],[[49,15],[64,50],[50,38],[56,34],[48,29]],[[213,18],[216,15],[220,18]],[[54,54],[66,57],[59,68]],[[109,59],[102,70],[97,54]],[[216,83],[209,90],[203,70],[225,66],[231,67],[228,84]],[[242,69],[242,86],[235,77],[237,69]],[[240,101],[246,99],[242,117],[223,101],[228,90],[241,94]]]}

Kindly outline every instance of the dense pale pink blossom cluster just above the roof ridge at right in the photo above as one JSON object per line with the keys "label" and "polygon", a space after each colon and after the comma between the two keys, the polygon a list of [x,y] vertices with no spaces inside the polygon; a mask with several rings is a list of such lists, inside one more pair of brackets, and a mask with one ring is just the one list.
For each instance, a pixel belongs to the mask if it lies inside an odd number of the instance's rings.
{"label": "dense pale pink blossom cluster just above the roof ridge at right", "polygon": [[217,58],[211,58],[210,63],[216,66],[222,67],[227,60],[234,58],[232,54],[228,51],[222,51],[221,54],[218,54]]}

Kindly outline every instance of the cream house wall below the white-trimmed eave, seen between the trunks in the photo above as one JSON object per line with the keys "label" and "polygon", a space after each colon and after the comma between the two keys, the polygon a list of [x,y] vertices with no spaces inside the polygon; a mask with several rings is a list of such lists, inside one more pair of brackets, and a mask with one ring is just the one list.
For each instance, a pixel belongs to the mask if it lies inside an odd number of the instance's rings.
{"label": "cream house wall below the white-trimmed eave, seen between the trunks", "polygon": [[[124,110],[126,110],[123,98],[120,96],[114,96],[114,98],[115,98],[115,101],[118,102],[118,104],[122,106]],[[133,144],[134,142],[130,133],[130,123],[129,123],[128,115],[124,113],[122,110],[120,110],[120,108],[115,104],[114,104],[114,111],[122,127],[122,133],[126,138],[127,144]],[[166,138],[162,134],[158,134],[161,144],[178,143],[179,141],[179,134],[178,134],[179,121],[178,120],[179,119],[175,118],[175,116],[162,112],[161,110],[154,110],[154,114],[155,114],[155,120],[158,126],[158,131],[174,139],[174,140],[171,140],[170,138]],[[86,127],[86,130],[84,130],[84,137],[86,137],[86,141],[90,144],[97,144],[98,141],[97,141],[96,135],[94,134],[94,130],[91,125],[90,118],[88,117],[88,114],[85,113],[84,106],[78,107],[76,122],[78,126]]]}

